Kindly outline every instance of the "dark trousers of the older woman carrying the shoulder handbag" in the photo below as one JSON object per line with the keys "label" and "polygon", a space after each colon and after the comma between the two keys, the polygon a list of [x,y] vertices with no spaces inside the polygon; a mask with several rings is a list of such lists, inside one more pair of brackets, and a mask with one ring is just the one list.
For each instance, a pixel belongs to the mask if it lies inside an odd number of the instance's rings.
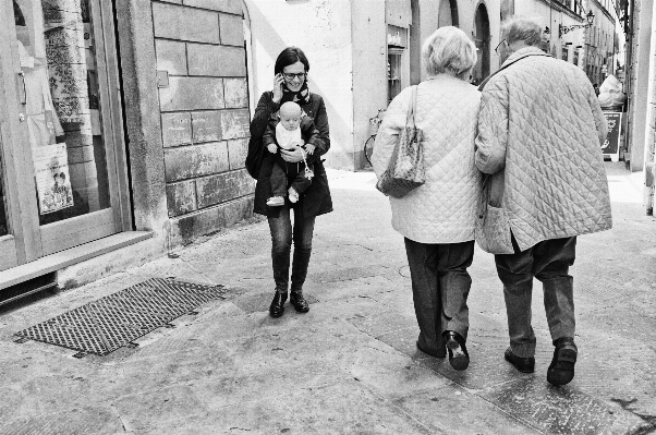
{"label": "dark trousers of the older woman carrying the shoulder handbag", "polygon": [[474,259],[474,241],[428,244],[405,239],[405,253],[420,325],[418,345],[428,353],[445,357],[445,330],[467,337],[466,300],[472,278],[466,269]]}

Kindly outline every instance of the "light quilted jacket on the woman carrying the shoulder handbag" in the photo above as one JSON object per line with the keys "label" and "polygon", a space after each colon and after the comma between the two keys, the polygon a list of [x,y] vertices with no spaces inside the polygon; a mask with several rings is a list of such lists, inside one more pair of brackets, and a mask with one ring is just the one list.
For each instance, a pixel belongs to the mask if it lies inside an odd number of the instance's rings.
{"label": "light quilted jacket on the woman carrying the shoulder handbag", "polygon": [[[378,178],[405,125],[411,100],[412,88],[408,87],[385,113],[372,156]],[[449,75],[418,85],[415,123],[424,132],[426,183],[402,198],[389,198],[392,227],[403,237],[421,243],[474,240],[481,185],[474,165],[479,102],[475,86]]]}

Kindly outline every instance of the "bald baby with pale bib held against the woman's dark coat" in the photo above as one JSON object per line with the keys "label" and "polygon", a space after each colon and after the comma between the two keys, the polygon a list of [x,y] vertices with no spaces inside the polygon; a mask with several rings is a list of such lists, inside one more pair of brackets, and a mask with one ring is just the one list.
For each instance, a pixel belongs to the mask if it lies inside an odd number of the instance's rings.
{"label": "bald baby with pale bib held against the woman's dark coat", "polygon": [[[299,201],[299,195],[309,188],[314,168],[306,157],[314,154],[318,137],[319,131],[314,125],[312,118],[305,116],[301,106],[293,101],[282,104],[278,114],[271,117],[263,136],[263,144],[269,153],[276,155],[271,170],[272,196],[267,200],[268,206],[284,205],[284,197],[288,195],[289,201],[295,203]],[[301,148],[304,161],[297,164],[284,161],[278,153],[278,148],[287,150]],[[288,180],[291,181],[289,190]]]}

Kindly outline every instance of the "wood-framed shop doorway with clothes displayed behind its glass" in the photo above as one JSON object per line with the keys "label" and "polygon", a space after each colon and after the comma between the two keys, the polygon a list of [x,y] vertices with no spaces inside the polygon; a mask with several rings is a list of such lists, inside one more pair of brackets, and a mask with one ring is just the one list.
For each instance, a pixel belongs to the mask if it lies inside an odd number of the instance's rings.
{"label": "wood-framed shop doorway with clothes displayed behind its glass", "polygon": [[0,270],[131,226],[112,13],[0,0]]}

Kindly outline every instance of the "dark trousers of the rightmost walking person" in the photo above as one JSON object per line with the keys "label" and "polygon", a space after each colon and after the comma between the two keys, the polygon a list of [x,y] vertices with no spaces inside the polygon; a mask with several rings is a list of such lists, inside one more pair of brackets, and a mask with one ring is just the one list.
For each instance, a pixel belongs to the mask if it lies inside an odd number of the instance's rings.
{"label": "dark trousers of the rightmost walking person", "polygon": [[574,280],[569,267],[576,256],[576,238],[552,239],[520,251],[512,238],[514,254],[495,255],[497,273],[503,282],[510,348],[518,357],[535,354],[531,325],[533,277],[543,283],[544,304],[551,340],[574,338]]}

